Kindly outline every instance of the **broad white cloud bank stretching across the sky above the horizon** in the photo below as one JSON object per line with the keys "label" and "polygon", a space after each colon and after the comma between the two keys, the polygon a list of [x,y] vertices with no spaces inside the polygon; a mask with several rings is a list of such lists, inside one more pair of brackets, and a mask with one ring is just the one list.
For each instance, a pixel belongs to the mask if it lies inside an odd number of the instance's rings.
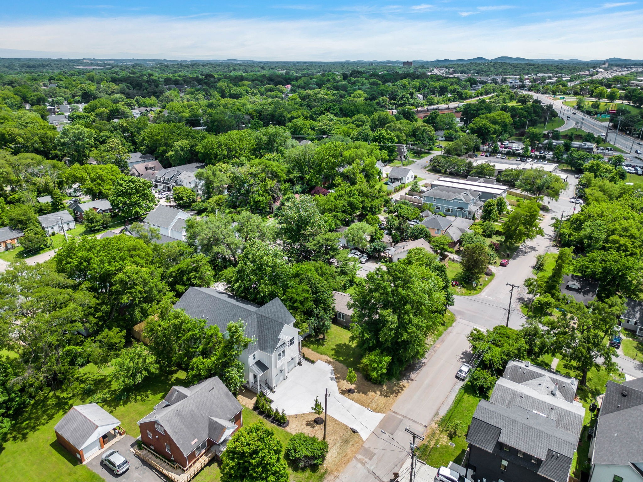
{"label": "broad white cloud bank stretching across the sky above the horizon", "polygon": [[[407,7],[408,9],[408,7]],[[586,31],[610,25],[610,36],[577,35],[570,22]],[[530,24],[505,24],[484,42],[462,35],[458,17],[417,24],[405,19],[372,18],[347,13],[341,17],[274,20],[231,17],[162,17],[152,15],[68,17],[0,23],[0,49],[50,51],[51,57],[133,57],[254,60],[433,60],[487,58],[643,58],[643,10],[569,17]],[[60,25],[66,28],[60,30]],[[140,28],[141,25],[154,28]],[[474,22],[467,28],[487,28]],[[478,30],[476,30],[478,31]],[[69,35],[73,32],[73,35]],[[19,51],[3,57],[21,57]]]}

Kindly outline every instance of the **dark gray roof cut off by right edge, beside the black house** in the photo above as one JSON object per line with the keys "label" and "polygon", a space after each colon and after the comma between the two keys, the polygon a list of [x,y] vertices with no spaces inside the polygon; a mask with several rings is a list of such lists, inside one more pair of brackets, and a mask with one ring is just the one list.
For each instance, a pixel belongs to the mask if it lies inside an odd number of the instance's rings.
{"label": "dark gray roof cut off by right edge, beside the black house", "polygon": [[[623,392],[626,393],[623,396]],[[643,378],[622,385],[609,381],[597,424],[592,463],[643,462]]]}

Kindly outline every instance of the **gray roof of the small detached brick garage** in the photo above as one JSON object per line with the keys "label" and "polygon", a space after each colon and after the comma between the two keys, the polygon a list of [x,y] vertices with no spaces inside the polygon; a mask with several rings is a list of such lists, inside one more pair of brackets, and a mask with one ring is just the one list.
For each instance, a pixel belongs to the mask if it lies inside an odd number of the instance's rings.
{"label": "gray roof of the small detached brick garage", "polygon": [[113,428],[120,422],[97,404],[87,404],[71,407],[53,429],[80,450],[92,442],[89,438],[96,429],[105,425]]}

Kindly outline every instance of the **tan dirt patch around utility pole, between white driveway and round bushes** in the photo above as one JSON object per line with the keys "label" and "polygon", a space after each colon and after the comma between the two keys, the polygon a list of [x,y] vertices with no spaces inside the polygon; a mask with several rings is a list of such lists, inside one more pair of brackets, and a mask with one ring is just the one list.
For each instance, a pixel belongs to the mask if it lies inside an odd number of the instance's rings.
{"label": "tan dirt patch around utility pole, between white driveway and round bushes", "polygon": [[[321,440],[323,438],[323,425],[315,424],[314,418],[316,416],[314,413],[289,415],[290,424],[285,429],[292,434],[303,432],[307,435],[314,435]],[[328,471],[326,479],[329,479],[329,476],[341,474],[341,471],[349,464],[364,442],[359,434],[352,433],[349,427],[330,415],[328,416],[327,424],[326,440],[329,451],[323,463],[323,468]],[[331,479],[334,479],[334,477]]]}

